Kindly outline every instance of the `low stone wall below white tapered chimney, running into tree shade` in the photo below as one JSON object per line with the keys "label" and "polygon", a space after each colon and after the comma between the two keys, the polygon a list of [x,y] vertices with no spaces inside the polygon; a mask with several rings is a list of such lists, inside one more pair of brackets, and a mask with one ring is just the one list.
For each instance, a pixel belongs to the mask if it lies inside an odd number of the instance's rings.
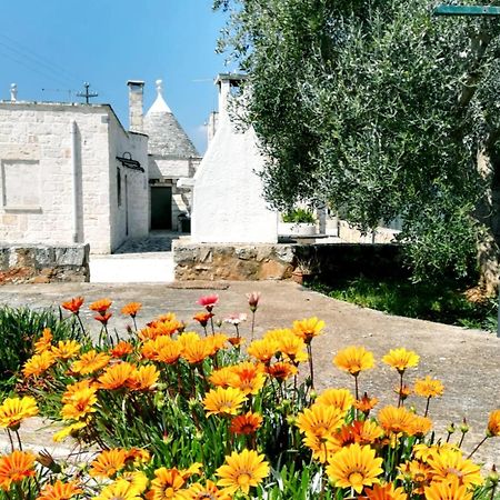
{"label": "low stone wall below white tapered chimney, running into tree shade", "polygon": [[173,243],[176,280],[286,280],[310,268],[322,281],[404,273],[397,244]]}

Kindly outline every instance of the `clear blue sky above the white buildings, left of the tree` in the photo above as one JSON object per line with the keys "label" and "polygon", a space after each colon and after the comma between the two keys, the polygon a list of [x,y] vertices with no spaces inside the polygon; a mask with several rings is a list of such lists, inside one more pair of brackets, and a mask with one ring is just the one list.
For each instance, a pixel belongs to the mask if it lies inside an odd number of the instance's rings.
{"label": "clear blue sky above the white buildings, left of the tree", "polygon": [[19,100],[67,101],[88,81],[99,92],[92,102],[111,104],[128,127],[127,80],[146,81],[147,110],[160,78],[202,153],[203,123],[217,108],[213,78],[228,71],[214,53],[223,24],[211,0],[2,1],[0,99],[16,82]]}

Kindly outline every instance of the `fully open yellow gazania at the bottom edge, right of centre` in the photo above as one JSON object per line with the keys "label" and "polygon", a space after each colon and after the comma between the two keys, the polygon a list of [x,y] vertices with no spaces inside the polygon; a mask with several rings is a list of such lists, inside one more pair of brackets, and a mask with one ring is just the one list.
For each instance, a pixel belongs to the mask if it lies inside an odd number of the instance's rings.
{"label": "fully open yellow gazania at the bottom edge, right of centre", "polygon": [[336,487],[353,488],[359,494],[366,486],[380,482],[378,477],[383,472],[382,462],[381,458],[376,458],[376,450],[354,443],[333,454],[327,474]]}

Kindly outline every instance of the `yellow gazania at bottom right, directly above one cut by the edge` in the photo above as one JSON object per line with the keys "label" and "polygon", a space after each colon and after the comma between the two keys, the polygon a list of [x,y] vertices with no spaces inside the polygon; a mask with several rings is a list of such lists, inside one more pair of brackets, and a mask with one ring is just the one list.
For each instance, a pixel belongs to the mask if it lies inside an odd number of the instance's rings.
{"label": "yellow gazania at bottom right, directly above one cut by the edge", "polygon": [[460,484],[482,484],[481,468],[472,460],[466,460],[461,453],[442,452],[429,458],[432,482],[450,482],[457,478]]}

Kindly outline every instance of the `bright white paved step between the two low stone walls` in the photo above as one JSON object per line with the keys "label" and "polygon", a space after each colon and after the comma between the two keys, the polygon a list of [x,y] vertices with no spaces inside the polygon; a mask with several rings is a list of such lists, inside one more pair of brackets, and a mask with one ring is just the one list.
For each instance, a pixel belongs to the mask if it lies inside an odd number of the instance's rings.
{"label": "bright white paved step between the two low stone walls", "polygon": [[171,283],[173,253],[90,256],[91,283]]}

